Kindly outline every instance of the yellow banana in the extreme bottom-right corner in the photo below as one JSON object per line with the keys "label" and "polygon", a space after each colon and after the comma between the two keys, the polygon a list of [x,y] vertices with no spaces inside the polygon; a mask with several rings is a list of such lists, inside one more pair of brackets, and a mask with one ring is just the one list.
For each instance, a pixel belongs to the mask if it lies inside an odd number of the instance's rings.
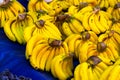
{"label": "yellow banana in the extreme bottom-right corner", "polygon": [[117,80],[120,73],[120,65],[115,65],[108,75],[108,80]]}

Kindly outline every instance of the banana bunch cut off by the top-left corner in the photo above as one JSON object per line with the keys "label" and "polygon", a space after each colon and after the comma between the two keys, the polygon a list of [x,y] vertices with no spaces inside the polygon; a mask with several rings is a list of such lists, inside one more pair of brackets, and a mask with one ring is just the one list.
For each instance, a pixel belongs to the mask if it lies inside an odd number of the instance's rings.
{"label": "banana bunch cut off by the top-left corner", "polygon": [[3,0],[0,3],[0,27],[4,27],[6,21],[25,12],[25,8],[17,0]]}

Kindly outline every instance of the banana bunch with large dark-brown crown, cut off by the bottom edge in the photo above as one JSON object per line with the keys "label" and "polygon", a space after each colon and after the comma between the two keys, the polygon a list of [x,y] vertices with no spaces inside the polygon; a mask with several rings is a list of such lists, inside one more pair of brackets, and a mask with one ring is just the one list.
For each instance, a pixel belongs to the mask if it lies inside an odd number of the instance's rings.
{"label": "banana bunch with large dark-brown crown, cut off by the bottom edge", "polygon": [[[108,80],[107,78],[103,79],[101,74],[104,74],[104,71],[113,66],[113,63],[114,61],[106,58],[91,56],[87,61],[76,66],[73,80]],[[111,80],[116,79],[112,78]]]}

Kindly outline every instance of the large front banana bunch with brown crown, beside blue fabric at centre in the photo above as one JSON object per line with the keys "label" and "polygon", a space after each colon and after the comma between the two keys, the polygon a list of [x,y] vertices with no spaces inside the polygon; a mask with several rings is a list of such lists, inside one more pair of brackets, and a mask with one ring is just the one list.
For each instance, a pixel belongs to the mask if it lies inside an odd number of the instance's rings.
{"label": "large front banana bunch with brown crown, beside blue fabric at centre", "polygon": [[50,71],[52,59],[60,54],[69,54],[67,43],[43,35],[33,36],[26,45],[26,58],[36,69]]}

